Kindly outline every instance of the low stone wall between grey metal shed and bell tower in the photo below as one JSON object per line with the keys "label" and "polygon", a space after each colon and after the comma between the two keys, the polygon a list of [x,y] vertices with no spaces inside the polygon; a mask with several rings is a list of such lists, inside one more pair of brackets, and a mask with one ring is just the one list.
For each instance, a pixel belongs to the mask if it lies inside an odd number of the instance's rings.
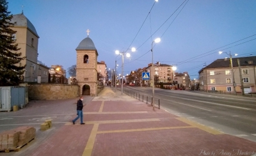
{"label": "low stone wall between grey metal shed and bell tower", "polygon": [[79,86],[67,84],[33,84],[28,86],[29,100],[57,100],[79,97]]}

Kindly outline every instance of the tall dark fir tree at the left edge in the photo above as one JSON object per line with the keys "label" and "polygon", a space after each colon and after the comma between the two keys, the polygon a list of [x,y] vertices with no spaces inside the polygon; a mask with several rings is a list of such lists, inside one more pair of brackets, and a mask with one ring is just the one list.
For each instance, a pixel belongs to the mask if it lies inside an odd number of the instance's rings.
{"label": "tall dark fir tree at the left edge", "polygon": [[25,66],[20,66],[20,61],[25,57],[15,43],[16,31],[11,27],[12,14],[8,12],[8,2],[0,0],[0,86],[17,85],[24,74]]}

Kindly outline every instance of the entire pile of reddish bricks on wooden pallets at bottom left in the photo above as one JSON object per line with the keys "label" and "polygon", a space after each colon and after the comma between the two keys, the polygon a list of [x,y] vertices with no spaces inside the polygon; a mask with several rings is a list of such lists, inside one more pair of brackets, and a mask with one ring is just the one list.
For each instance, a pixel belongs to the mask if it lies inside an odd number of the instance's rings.
{"label": "entire pile of reddish bricks on wooden pallets at bottom left", "polygon": [[14,149],[35,138],[36,129],[34,127],[18,127],[0,134],[0,150]]}

